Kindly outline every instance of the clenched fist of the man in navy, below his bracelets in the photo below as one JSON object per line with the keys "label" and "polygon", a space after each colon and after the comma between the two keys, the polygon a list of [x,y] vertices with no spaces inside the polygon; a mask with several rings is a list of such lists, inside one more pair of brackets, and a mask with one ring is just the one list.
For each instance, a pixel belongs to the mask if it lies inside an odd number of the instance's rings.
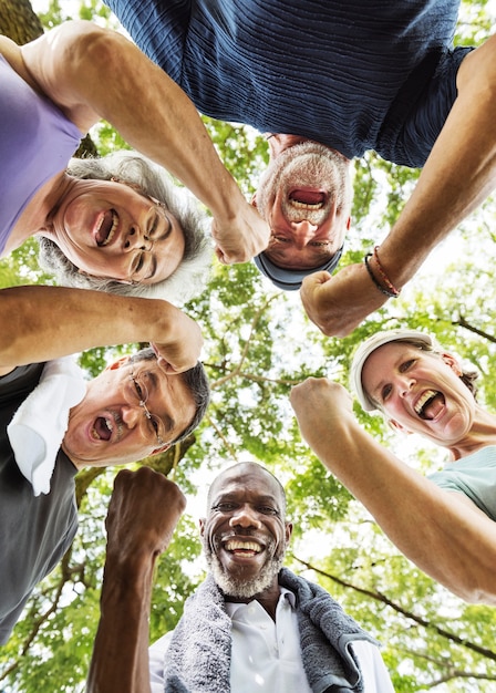
{"label": "clenched fist of the man in navy, below his bracelets", "polygon": [[347,337],[388,300],[362,262],[343,267],[333,277],[329,272],[309,275],[300,297],[307,316],[328,337]]}

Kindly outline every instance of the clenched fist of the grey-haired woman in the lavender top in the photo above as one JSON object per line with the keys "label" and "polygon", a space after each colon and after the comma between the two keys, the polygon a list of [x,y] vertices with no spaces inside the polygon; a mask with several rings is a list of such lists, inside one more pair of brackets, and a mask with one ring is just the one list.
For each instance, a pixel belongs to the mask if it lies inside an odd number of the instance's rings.
{"label": "clenched fist of the grey-haired woman in the lavender top", "polygon": [[270,229],[257,209],[242,200],[235,219],[214,218],[211,235],[223,265],[248,262],[269,244]]}

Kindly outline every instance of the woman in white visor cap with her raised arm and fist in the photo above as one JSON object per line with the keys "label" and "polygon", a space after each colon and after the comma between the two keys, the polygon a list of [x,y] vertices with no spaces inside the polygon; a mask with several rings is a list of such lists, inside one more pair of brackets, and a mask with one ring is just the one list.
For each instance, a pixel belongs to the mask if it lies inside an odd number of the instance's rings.
{"label": "woman in white visor cap with her raised arm and fist", "polygon": [[309,379],[291,404],[319,459],[407,558],[462,599],[496,604],[496,415],[476,402],[475,379],[416,330],[376,333],[354,354],[362,407],[450,452],[428,478],[363,431],[338,383]]}

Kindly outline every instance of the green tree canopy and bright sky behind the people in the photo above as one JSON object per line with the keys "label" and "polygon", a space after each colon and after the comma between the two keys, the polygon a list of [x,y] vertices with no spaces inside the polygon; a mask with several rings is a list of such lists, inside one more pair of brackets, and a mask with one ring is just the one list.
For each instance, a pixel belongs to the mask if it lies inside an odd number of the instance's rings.
{"label": "green tree canopy and bright sky behind the people", "polygon": [[[0,29],[23,29],[29,40],[41,27],[71,17],[52,0],[39,13],[27,1],[0,0]],[[111,22],[97,0],[79,15]],[[22,18],[22,19],[21,19]],[[480,43],[495,15],[484,0],[463,2],[456,41]],[[28,28],[25,31],[24,29]],[[268,159],[267,143],[248,127],[205,118],[223,161],[246,195]],[[99,154],[126,146],[102,123],[92,132]],[[461,163],[463,165],[463,163]],[[374,153],[354,163],[352,229],[342,262],[355,262],[380,242],[418,176]],[[213,402],[204,423],[185,444],[142,461],[174,478],[202,507],[205,485],[216,470],[255,459],[286,485],[294,535],[287,565],[339,600],[383,644],[397,691],[490,692],[496,682],[496,610],[467,606],[416,569],[384,537],[373,519],[301,441],[289,392],[309,375],[348,383],[350,354],[380,329],[420,328],[434,333],[483,377],[479,399],[496,411],[496,306],[494,281],[496,200],[487,199],[451,237],[395,301],[389,301],[345,339],[323,337],[306,318],[298,292],[283,293],[252,263],[216,263],[207,289],[185,310],[202,327],[204,363]],[[35,241],[0,261],[0,288],[51,283],[37,267]],[[95,349],[81,354],[89,376],[115,354],[133,349]],[[422,473],[436,469],[443,453],[393,434],[382,418],[359,411],[363,426]],[[0,652],[0,689],[22,693],[84,690],[99,621],[105,555],[104,519],[117,468],[89,469],[76,477],[80,530],[62,563],[35,590],[9,643]],[[173,545],[159,561],[151,640],[174,628],[184,599],[204,577],[194,517],[186,511]]]}

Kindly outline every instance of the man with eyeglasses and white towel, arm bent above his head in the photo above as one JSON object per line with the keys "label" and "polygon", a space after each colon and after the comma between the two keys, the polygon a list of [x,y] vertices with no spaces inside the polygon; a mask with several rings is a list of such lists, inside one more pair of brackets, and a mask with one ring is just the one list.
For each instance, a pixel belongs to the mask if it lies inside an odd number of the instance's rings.
{"label": "man with eyeglasses and white towel, arm bent above his head", "polygon": [[[166,451],[202,421],[196,323],[163,300],[60,287],[0,296],[0,644],[78,529],[76,473]],[[79,310],[74,310],[78,306]],[[151,341],[86,382],[68,354]]]}

